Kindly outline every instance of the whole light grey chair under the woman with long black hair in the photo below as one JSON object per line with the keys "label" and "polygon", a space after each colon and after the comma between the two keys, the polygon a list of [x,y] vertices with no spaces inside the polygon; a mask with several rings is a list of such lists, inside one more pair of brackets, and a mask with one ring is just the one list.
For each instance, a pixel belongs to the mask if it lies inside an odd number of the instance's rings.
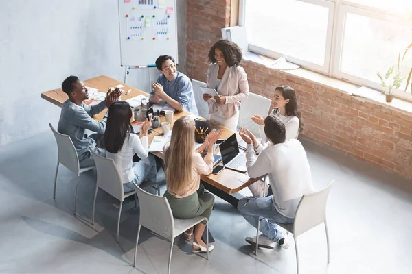
{"label": "whole light grey chair under the woman with long black hair", "polygon": [[[93,154],[93,158],[96,163],[96,169],[98,171],[98,181],[96,183],[96,190],[95,190],[95,197],[93,201],[93,216],[91,218],[91,224],[94,225],[94,216],[95,216],[95,206],[96,206],[96,198],[98,197],[98,189],[102,188],[102,190],[106,191],[108,194],[112,195],[116,199],[120,201],[119,207],[119,217],[117,218],[117,237],[116,242],[119,242],[119,228],[120,228],[120,215],[122,214],[122,206],[124,198],[130,197],[131,195],[135,195],[135,206],[137,206],[136,201],[136,191],[130,191],[124,193],[123,191],[123,183],[122,179],[120,179],[119,170],[115,162],[112,159],[105,158],[94,151],[91,151]],[[159,184],[150,181],[144,181],[141,183],[142,188],[150,188],[154,186],[157,188],[157,195],[160,195],[160,188]]]}

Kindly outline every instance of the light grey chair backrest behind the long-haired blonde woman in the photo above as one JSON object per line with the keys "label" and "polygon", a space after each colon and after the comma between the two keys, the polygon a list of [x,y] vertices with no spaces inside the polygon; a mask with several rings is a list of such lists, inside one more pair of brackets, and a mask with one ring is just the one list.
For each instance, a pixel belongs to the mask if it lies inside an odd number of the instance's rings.
{"label": "light grey chair backrest behind the long-haired blonde woman", "polygon": [[173,240],[174,221],[168,199],[163,196],[152,195],[139,188],[137,184],[134,185],[139,198],[139,225],[143,225],[152,232]]}

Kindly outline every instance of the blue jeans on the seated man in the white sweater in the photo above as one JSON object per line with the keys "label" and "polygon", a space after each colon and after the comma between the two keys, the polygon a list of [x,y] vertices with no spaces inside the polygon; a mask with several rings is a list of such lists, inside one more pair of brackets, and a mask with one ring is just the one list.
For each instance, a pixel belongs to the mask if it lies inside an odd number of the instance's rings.
{"label": "blue jeans on the seated man in the white sweater", "polygon": [[258,228],[259,217],[266,218],[260,222],[260,232],[273,242],[279,242],[284,238],[284,234],[277,230],[276,223],[293,223],[294,219],[277,212],[272,199],[273,195],[261,198],[242,198],[238,203],[238,210],[244,219],[255,228]]}

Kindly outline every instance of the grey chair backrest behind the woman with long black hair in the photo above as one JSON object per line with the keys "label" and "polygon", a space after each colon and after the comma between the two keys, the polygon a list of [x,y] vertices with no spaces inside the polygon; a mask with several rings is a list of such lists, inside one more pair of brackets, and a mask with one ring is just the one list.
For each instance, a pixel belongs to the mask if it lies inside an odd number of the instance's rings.
{"label": "grey chair backrest behind the woman with long black hair", "polygon": [[97,186],[119,201],[123,201],[123,182],[115,161],[105,158],[93,150],[90,151],[96,163],[96,171],[98,172]]}

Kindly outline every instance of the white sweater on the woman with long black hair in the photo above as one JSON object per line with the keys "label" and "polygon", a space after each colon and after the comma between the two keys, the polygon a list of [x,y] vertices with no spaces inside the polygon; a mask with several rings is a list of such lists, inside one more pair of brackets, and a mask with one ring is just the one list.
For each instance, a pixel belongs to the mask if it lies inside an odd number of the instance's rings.
{"label": "white sweater on the woman with long black hair", "polygon": [[144,136],[140,140],[136,134],[126,136],[123,147],[117,153],[107,151],[107,158],[113,159],[119,170],[123,184],[133,181],[135,173],[133,172],[133,155],[137,154],[139,158],[146,159],[149,154],[149,138]]}

